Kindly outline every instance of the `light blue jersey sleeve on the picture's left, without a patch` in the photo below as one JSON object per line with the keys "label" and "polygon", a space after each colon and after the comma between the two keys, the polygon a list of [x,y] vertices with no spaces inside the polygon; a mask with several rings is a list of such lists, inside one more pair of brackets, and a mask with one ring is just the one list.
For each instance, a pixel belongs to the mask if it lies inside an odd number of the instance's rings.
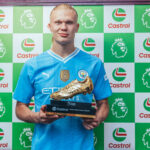
{"label": "light blue jersey sleeve on the picture's left, without a patch", "polygon": [[13,98],[15,100],[26,104],[30,102],[32,96],[34,95],[32,76],[33,68],[31,64],[25,63],[14,91]]}

